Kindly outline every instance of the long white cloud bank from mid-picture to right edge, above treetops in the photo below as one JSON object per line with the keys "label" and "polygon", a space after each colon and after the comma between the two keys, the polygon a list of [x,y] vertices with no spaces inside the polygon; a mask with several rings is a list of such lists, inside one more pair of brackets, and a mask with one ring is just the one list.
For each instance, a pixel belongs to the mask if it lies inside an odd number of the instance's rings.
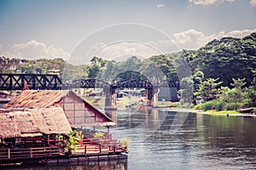
{"label": "long white cloud bank from mid-picture to right edge, above treetops", "polygon": [[120,41],[110,44],[98,42],[89,50],[84,50],[84,54],[78,54],[78,58],[72,55],[70,61],[73,64],[79,65],[81,63],[88,63],[93,56],[114,60],[124,60],[127,56],[131,57],[132,55],[148,58],[152,55],[172,54],[182,49],[198,49],[205,46],[213,39],[220,39],[222,37],[245,37],[255,31],[256,29],[229,32],[219,31],[218,34],[205,35],[201,31],[190,29],[174,34],[173,40],[166,39],[156,42]]}

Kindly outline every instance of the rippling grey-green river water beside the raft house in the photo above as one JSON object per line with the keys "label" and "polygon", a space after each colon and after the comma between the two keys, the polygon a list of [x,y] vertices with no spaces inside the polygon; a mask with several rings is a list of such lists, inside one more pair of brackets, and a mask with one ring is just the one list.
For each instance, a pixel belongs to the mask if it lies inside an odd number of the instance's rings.
{"label": "rippling grey-green river water beside the raft house", "polygon": [[114,139],[129,139],[127,161],[11,169],[256,169],[256,118],[165,109],[108,111]]}

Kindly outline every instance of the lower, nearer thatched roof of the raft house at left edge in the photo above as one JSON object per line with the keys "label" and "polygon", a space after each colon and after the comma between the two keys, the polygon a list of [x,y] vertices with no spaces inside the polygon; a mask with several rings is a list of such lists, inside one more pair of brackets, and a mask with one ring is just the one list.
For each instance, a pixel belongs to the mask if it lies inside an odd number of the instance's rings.
{"label": "lower, nearer thatched roof of the raft house at left edge", "polygon": [[72,130],[61,107],[0,109],[0,139],[67,134]]}

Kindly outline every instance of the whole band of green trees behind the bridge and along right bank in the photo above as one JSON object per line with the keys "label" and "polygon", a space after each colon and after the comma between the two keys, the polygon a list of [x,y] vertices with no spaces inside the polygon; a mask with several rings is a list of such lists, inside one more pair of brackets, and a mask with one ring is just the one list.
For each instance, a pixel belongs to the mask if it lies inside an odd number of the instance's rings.
{"label": "whole band of green trees behind the bridge and along right bank", "polygon": [[[70,65],[63,59],[9,59],[0,57],[1,73],[49,74],[62,80],[97,78],[113,82],[125,71],[137,71],[151,82],[179,80],[193,89],[194,105],[204,110],[234,110],[255,106],[256,32],[247,37],[223,37],[197,50],[160,54],[148,59],[131,56],[124,61],[93,57],[90,63]],[[55,72],[54,72],[55,73]],[[188,95],[188,91],[179,92]]]}

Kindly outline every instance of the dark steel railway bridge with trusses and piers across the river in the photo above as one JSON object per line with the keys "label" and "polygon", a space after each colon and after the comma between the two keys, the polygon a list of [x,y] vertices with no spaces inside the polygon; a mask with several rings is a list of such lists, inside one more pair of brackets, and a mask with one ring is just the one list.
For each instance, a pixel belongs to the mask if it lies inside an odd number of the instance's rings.
{"label": "dark steel railway bridge with trusses and piers across the river", "polygon": [[140,79],[131,79],[125,82],[108,83],[98,79],[80,79],[64,83],[57,75],[42,74],[0,74],[0,90],[62,90],[73,88],[102,88],[105,93],[105,105],[113,105],[112,99],[117,89],[145,88],[148,100],[152,101],[159,88],[177,88],[178,81],[164,81],[151,83]]}

